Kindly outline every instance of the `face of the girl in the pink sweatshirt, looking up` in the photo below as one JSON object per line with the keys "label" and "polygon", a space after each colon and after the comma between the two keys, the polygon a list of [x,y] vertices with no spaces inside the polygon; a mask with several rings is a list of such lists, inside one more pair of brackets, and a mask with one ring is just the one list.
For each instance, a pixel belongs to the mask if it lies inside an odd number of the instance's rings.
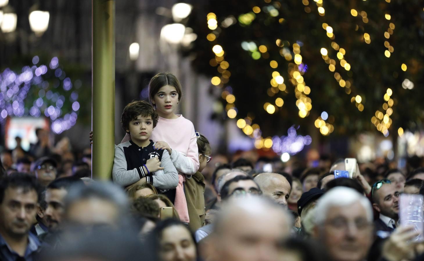
{"label": "face of the girl in the pink sweatshirt, looking up", "polygon": [[178,104],[178,92],[174,86],[165,85],[153,97],[158,114],[173,114]]}

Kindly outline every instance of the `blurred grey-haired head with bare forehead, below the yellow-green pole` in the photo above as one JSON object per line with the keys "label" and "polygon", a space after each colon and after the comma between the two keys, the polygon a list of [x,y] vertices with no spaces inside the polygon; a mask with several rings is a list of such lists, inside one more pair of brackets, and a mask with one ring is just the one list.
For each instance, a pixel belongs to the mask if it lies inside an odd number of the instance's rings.
{"label": "blurred grey-haired head with bare forehead, below the yellow-green pole", "polygon": [[64,198],[64,220],[71,224],[124,224],[128,216],[128,198],[119,186],[109,182],[72,186]]}

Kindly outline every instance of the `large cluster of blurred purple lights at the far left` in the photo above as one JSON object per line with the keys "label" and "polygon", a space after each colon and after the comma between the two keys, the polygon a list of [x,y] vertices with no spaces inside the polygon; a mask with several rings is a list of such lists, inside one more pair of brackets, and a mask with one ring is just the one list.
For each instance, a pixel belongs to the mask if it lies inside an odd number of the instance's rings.
{"label": "large cluster of blurred purple lights at the far left", "polygon": [[[72,82],[66,77],[57,57],[51,59],[48,67],[39,64],[38,56],[33,57],[32,63],[23,67],[20,73],[6,68],[0,74],[0,122],[8,116],[44,115],[50,119],[54,133],[69,130],[75,125],[80,109],[78,89],[81,80]],[[33,103],[28,104],[28,101]]]}

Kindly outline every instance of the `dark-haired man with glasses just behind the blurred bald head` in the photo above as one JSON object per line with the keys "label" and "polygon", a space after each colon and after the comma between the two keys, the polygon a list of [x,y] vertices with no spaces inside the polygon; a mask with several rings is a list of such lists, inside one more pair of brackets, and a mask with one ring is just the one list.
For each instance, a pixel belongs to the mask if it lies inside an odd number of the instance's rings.
{"label": "dark-haired man with glasses just behind the blurred bald head", "polygon": [[[243,175],[236,176],[224,183],[220,194],[218,194],[218,202],[221,203],[233,197],[247,197],[260,194],[262,194],[262,191],[259,189],[259,185],[251,177]],[[213,224],[208,224],[196,230],[196,242],[208,236],[212,232],[212,229]]]}

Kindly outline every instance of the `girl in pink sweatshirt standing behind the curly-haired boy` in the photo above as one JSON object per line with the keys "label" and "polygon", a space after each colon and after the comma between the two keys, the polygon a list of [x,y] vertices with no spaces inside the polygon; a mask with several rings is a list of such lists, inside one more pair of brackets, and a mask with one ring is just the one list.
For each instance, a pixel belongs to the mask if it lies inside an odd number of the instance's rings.
{"label": "girl in pink sweatshirt standing behind the curly-haired boy", "polygon": [[[156,108],[159,120],[151,135],[156,150],[167,150],[179,174],[175,190],[164,191],[182,222],[190,222],[183,183],[199,169],[197,138],[193,123],[175,114],[181,99],[181,85],[171,73],[158,73],[149,83],[149,101]],[[123,142],[129,139],[127,136]],[[187,188],[188,189],[188,188]],[[203,195],[198,195],[203,197]]]}

